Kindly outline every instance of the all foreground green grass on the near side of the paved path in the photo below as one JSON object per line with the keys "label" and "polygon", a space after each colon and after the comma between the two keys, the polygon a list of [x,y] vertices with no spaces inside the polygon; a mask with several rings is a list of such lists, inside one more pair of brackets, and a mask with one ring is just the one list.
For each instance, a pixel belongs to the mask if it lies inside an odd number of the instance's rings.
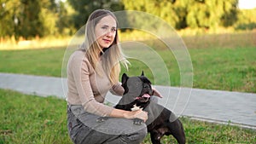
{"label": "all foreground green grass on the near side of the paved path", "polygon": [[[71,144],[67,103],[62,99],[23,95],[0,89],[0,144]],[[255,143],[256,131],[181,118],[188,143]],[[162,142],[175,143],[172,136]],[[143,144],[149,144],[149,135]]]}

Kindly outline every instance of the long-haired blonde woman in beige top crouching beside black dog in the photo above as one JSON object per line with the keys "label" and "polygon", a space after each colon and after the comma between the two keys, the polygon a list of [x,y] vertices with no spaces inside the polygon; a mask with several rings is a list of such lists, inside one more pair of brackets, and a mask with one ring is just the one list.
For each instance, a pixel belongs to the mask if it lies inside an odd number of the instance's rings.
{"label": "long-haired blonde woman in beige top crouching beside black dog", "polygon": [[[128,61],[118,45],[117,20],[112,12],[98,9],[85,26],[83,46],[70,56],[67,65],[67,124],[74,143],[140,143],[147,134],[145,124],[132,118],[148,119],[147,112],[124,111],[103,104],[110,90],[123,95],[119,84],[120,65]],[[155,93],[157,91],[155,90]],[[99,117],[110,117],[97,123]]]}

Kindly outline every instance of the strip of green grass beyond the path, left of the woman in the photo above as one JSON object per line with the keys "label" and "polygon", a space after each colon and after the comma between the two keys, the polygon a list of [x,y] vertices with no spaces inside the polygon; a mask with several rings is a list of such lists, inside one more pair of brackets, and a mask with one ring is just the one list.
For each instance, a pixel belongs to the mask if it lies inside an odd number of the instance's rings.
{"label": "strip of green grass beyond the path, left of the woman", "polygon": [[0,72],[61,77],[65,49],[26,49],[0,51]]}

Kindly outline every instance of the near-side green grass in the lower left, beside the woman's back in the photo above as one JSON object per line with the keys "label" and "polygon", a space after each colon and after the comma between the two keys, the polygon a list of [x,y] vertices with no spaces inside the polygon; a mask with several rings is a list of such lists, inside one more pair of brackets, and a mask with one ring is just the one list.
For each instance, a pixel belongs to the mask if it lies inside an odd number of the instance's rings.
{"label": "near-side green grass in the lower left, beside the woman's back", "polygon": [[66,101],[0,89],[0,143],[71,143]]}

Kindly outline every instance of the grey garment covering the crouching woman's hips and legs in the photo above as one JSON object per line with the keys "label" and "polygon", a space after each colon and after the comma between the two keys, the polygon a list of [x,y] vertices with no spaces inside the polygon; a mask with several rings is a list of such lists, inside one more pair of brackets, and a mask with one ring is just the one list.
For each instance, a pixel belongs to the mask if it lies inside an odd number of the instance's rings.
{"label": "grey garment covering the crouching woman's hips and legs", "polygon": [[147,135],[147,125],[132,119],[108,118],[99,123],[97,116],[82,106],[67,106],[68,133],[75,144],[139,144]]}

